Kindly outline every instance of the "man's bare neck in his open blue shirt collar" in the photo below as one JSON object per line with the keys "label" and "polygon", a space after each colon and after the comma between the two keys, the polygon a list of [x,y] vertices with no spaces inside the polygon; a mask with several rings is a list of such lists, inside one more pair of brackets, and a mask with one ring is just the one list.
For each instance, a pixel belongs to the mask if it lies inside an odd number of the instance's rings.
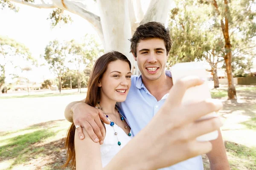
{"label": "man's bare neck in his open blue shirt collar", "polygon": [[142,76],[142,82],[157,101],[162,99],[172,88],[172,78],[166,76],[166,74],[161,75],[161,77],[156,80],[148,80]]}

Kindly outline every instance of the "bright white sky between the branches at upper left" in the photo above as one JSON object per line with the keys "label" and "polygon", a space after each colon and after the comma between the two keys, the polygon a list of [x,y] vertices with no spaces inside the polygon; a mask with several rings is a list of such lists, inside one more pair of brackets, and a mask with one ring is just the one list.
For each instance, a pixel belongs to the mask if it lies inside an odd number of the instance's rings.
{"label": "bright white sky between the branches at upper left", "polygon": [[[30,6],[17,4],[20,8],[17,13],[9,9],[0,10],[0,34],[15,39],[29,48],[32,56],[40,60],[40,55],[44,54],[44,48],[52,40],[80,40],[85,34],[93,34],[99,41],[96,31],[90,24],[76,14],[70,14],[73,23],[63,24],[61,28],[50,27],[47,20],[52,9],[39,9]],[[100,43],[100,41],[99,41]],[[10,70],[11,68],[8,68]],[[35,68],[25,75],[32,82],[42,82],[44,79],[54,78],[47,66]],[[10,77],[6,82],[11,82]]]}

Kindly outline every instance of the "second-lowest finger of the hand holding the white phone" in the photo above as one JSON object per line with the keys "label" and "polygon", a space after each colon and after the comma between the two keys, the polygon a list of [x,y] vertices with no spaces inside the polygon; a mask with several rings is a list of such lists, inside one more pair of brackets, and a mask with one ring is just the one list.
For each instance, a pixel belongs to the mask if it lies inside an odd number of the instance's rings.
{"label": "second-lowest finger of the hand holding the white phone", "polygon": [[195,139],[198,136],[218,130],[222,125],[221,119],[218,117],[201,120],[199,122],[195,122],[186,133],[189,134],[190,139]]}

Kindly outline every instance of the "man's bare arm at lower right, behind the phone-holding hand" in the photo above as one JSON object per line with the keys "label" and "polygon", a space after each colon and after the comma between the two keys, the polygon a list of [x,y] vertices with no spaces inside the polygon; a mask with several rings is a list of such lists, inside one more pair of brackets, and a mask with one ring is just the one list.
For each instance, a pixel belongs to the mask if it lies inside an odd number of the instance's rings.
{"label": "man's bare arm at lower right, behind the phone-holding hand", "polygon": [[223,144],[221,130],[218,130],[218,138],[211,141],[212,151],[207,153],[211,170],[230,170],[226,149]]}

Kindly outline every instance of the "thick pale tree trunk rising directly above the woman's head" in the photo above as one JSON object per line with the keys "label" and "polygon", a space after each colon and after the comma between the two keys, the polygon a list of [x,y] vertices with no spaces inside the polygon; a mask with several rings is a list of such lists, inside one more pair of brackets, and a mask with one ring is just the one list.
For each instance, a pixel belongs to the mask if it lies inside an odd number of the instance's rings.
{"label": "thick pale tree trunk rising directly above the woman's head", "polygon": [[97,0],[102,31],[105,41],[105,53],[120,51],[134,65],[130,53],[131,25],[127,0]]}

